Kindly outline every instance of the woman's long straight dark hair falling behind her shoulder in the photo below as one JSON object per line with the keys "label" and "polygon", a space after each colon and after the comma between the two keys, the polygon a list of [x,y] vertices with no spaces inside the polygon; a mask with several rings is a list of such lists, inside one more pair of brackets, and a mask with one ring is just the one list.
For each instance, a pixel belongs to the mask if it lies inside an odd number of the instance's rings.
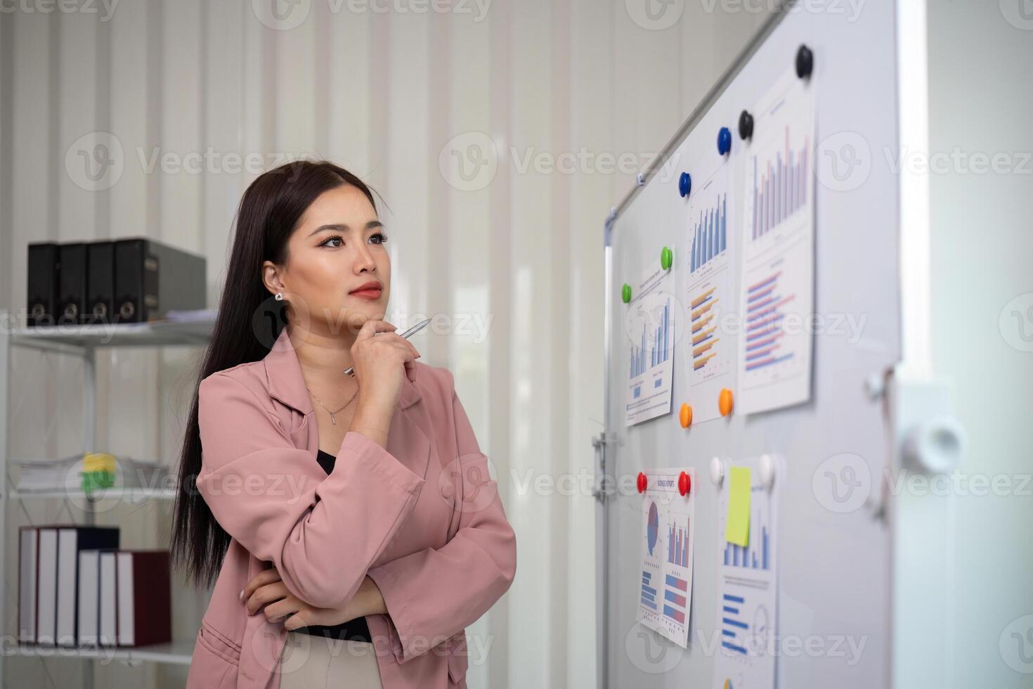
{"label": "woman's long straight dark hair falling behind her shoulder", "polygon": [[370,188],[348,170],[325,160],[294,161],[259,176],[244,192],[226,283],[219,300],[212,340],[194,385],[176,494],[170,555],[174,566],[196,586],[211,586],[229,546],[227,534],[197,492],[200,433],[197,386],[216,371],[265,356],[287,325],[285,302],[277,302],[262,282],[262,261],[287,262],[287,240],[302,214],[324,191],[357,187],[376,209]]}

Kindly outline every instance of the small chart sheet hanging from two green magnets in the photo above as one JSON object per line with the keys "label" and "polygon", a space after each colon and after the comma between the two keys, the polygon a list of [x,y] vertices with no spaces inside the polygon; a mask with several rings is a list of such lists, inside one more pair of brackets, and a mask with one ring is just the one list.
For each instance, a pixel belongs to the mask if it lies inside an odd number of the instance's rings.
{"label": "small chart sheet hanging from two green magnets", "polygon": [[632,291],[625,317],[628,337],[628,426],[670,412],[675,342],[684,316],[668,289],[674,279],[654,262]]}

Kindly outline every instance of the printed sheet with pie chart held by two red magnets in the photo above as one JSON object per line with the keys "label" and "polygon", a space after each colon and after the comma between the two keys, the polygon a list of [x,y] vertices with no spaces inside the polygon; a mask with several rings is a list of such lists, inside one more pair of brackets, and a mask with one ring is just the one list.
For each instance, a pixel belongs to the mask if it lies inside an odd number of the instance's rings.
{"label": "printed sheet with pie chart held by two red magnets", "polygon": [[694,483],[691,468],[651,469],[643,494],[641,580],[638,622],[683,649],[689,641],[692,602],[692,549],[695,543],[695,499],[678,488],[682,472]]}

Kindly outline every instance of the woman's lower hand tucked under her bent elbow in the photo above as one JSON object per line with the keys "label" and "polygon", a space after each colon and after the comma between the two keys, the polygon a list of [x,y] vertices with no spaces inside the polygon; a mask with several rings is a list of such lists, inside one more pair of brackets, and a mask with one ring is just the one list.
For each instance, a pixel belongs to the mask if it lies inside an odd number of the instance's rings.
{"label": "woman's lower hand tucked under her bent elbow", "polygon": [[287,590],[276,567],[270,567],[256,574],[244,590],[241,599],[246,600],[248,615],[262,610],[270,622],[284,620],[287,630],[311,625],[332,626],[343,624],[367,615],[387,613],[380,589],[369,576],[363,580],[355,595],[340,608],[314,607]]}

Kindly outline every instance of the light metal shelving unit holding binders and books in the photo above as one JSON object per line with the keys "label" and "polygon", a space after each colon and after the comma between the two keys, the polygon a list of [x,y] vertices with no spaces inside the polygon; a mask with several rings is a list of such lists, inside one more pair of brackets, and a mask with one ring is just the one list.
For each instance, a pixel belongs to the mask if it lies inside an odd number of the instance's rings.
{"label": "light metal shelving unit holding binders and books", "polygon": [[[147,500],[171,500],[176,493],[166,489],[108,489],[102,494],[86,498],[84,493],[68,491],[17,491],[9,489],[8,461],[8,402],[10,400],[11,353],[14,347],[59,352],[79,356],[83,361],[83,451],[96,451],[96,351],[106,347],[199,347],[208,344],[215,325],[214,319],[191,321],[161,321],[149,323],[122,323],[117,325],[51,325],[44,327],[14,327],[12,318],[0,311],[0,472],[5,477],[0,490],[0,534],[6,533],[8,500],[43,500],[79,498],[80,504],[93,505],[99,500],[119,499],[130,503]],[[87,524],[94,522],[93,512],[87,513]],[[0,572],[6,571],[7,546],[0,547]],[[17,558],[17,551],[13,556]],[[0,596],[0,624],[7,629],[6,596]],[[17,638],[17,636],[15,636]],[[8,645],[0,651],[0,681],[5,680],[4,665],[7,656],[35,656],[44,658],[117,659],[129,665],[144,662],[190,664],[194,639],[174,639],[171,644],[119,648],[119,647],[60,647],[32,644]],[[87,685],[92,685],[92,674]]]}

